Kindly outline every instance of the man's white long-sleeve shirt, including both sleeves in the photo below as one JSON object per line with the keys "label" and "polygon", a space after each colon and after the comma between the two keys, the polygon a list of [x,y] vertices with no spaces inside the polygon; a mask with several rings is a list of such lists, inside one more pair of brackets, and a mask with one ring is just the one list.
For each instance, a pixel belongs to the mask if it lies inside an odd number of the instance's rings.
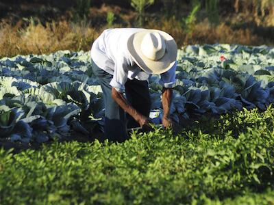
{"label": "man's white long-sleeve shirt, including both sleeves", "polygon": [[[150,76],[135,64],[127,50],[127,40],[138,31],[142,31],[142,29],[106,29],[92,44],[90,57],[99,68],[113,75],[110,85],[119,92],[125,90],[127,79],[136,78],[140,81],[146,81]],[[173,87],[176,66],[177,63],[170,70],[160,74],[159,83],[162,86]]]}

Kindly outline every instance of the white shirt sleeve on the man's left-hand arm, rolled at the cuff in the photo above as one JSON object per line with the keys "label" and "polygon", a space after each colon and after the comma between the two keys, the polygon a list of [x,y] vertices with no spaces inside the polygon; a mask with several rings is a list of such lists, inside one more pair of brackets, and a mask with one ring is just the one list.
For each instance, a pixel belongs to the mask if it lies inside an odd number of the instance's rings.
{"label": "white shirt sleeve on the man's left-hand arm, rolled at the cuff", "polygon": [[125,82],[127,81],[127,61],[125,58],[117,59],[114,66],[113,78],[110,85],[115,88],[117,92],[125,91]]}

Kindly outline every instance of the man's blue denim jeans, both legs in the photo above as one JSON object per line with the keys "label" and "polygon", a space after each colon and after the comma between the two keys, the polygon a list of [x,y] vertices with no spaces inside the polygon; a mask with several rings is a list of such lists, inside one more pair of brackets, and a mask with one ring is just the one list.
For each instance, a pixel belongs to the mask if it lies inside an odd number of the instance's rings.
{"label": "man's blue denim jeans, both legs", "polygon": [[[140,126],[132,116],[125,114],[125,111],[112,98],[112,74],[105,72],[92,61],[92,73],[97,77],[103,91],[105,103],[105,137],[111,141],[122,142],[129,138],[127,128]],[[147,81],[127,79],[125,83],[125,96],[138,113],[149,117],[151,100]]]}

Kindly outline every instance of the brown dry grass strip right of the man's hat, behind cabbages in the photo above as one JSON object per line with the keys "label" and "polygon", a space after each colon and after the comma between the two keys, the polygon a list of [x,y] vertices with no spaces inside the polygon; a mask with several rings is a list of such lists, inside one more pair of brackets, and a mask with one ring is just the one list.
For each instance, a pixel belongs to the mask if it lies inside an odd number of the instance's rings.
{"label": "brown dry grass strip right of the man's hat, behind cabbages", "polygon": [[197,23],[189,33],[182,29],[179,21],[175,18],[170,18],[169,20],[162,18],[158,22],[153,21],[149,23],[147,27],[167,31],[175,38],[178,46],[186,44],[214,44],[217,42],[247,45],[273,44],[269,40],[254,35],[251,29],[234,30],[225,23],[212,27],[207,19]]}

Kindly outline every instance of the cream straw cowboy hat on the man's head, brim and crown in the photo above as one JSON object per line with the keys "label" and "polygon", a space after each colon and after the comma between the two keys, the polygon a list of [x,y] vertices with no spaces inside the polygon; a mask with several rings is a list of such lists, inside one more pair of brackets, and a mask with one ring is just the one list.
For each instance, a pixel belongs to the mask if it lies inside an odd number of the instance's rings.
{"label": "cream straw cowboy hat on the man's head, brim and crown", "polygon": [[177,44],[168,33],[144,29],[129,37],[127,49],[136,64],[149,74],[169,70],[176,61]]}

